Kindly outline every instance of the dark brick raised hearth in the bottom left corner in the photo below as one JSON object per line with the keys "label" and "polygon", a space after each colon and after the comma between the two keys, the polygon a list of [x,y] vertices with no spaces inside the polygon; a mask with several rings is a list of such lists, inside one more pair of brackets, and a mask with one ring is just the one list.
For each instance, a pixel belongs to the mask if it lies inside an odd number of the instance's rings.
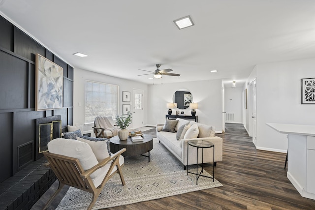
{"label": "dark brick raised hearth in the bottom left corner", "polygon": [[32,162],[0,183],[0,210],[28,210],[55,182],[53,171],[44,166],[45,157]]}

